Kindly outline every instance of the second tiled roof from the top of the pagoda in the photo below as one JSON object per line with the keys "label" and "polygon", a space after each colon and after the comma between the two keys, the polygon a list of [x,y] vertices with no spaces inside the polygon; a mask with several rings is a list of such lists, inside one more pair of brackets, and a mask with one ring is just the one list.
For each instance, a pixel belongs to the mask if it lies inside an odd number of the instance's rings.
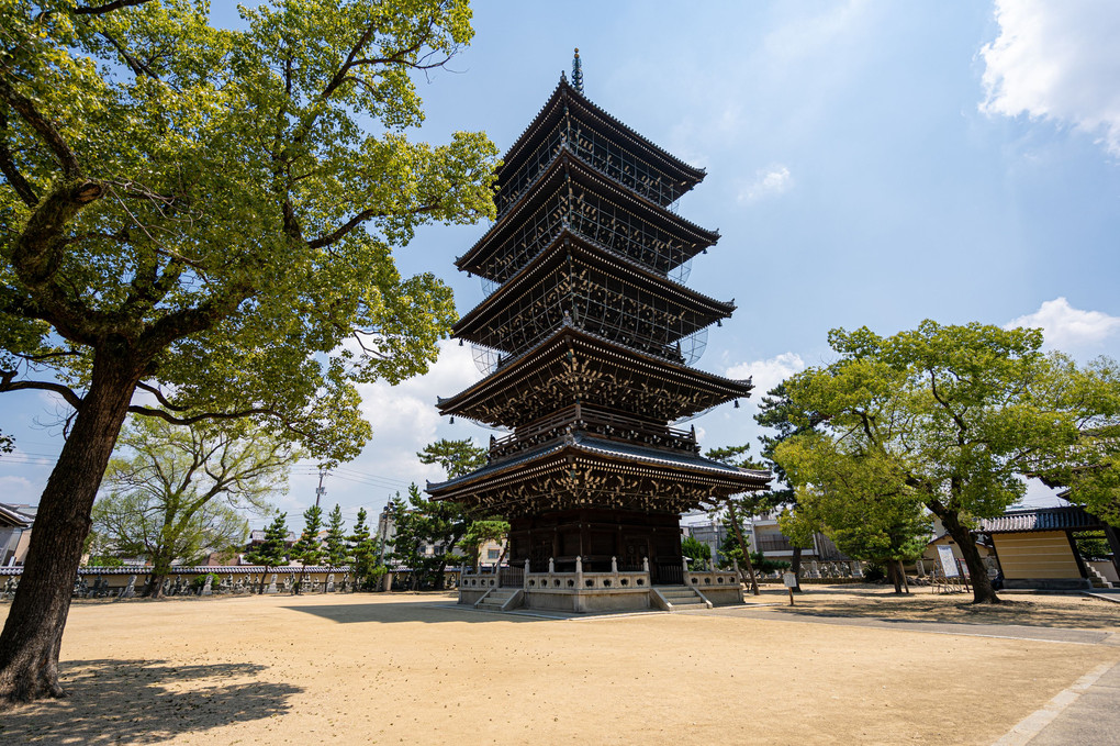
{"label": "second tiled roof from the top of the pagoda", "polygon": [[[543,197],[547,197],[547,187],[556,186],[560,179],[573,176],[577,180],[585,179],[595,183],[595,187],[600,189],[600,194],[608,194],[617,198],[620,204],[633,207],[635,211],[644,212],[652,222],[659,223],[661,227],[669,232],[675,232],[681,236],[694,239],[689,254],[682,255],[683,263],[691,257],[700,253],[707,246],[719,241],[719,231],[711,231],[696,223],[661,207],[648,199],[636,194],[633,189],[604,175],[598,169],[588,166],[582,159],[571,153],[568,148],[561,148],[560,155],[552,160],[552,164],[536,179],[532,188],[525,189],[517,202],[507,209],[502,217],[480,237],[477,242],[458,259],[455,265],[460,271],[470,271],[483,274],[478,260],[485,255],[486,249],[496,244],[501,234],[507,229],[522,224],[520,215],[523,211],[535,208]],[[590,187],[588,187],[590,188]]]}

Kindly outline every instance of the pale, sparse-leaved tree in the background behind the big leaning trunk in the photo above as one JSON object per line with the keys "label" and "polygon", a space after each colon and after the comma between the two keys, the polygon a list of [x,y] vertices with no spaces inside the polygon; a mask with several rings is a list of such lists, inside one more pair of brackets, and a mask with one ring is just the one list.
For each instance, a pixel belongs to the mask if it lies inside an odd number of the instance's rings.
{"label": "pale, sparse-leaved tree in the background behind the big leaning trunk", "polygon": [[243,514],[270,513],[269,498],[283,492],[298,453],[243,425],[136,418],[122,430],[93,507],[93,529],[119,554],[148,557],[146,595],[162,595],[172,561],[193,563],[243,545]]}

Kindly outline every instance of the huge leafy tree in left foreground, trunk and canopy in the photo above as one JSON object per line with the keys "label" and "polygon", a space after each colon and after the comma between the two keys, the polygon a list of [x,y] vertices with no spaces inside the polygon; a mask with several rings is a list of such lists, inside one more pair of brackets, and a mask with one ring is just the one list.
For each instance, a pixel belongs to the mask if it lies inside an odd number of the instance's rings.
{"label": "huge leafy tree in left foreground, trunk and canopy", "polygon": [[0,700],[63,694],[69,586],[130,411],[254,418],[352,457],[370,435],[354,384],[422,372],[455,318],[392,249],[494,214],[484,134],[409,139],[412,76],[469,41],[466,0],[242,13],[227,30],[204,0],[0,0],[0,391],[74,410]]}

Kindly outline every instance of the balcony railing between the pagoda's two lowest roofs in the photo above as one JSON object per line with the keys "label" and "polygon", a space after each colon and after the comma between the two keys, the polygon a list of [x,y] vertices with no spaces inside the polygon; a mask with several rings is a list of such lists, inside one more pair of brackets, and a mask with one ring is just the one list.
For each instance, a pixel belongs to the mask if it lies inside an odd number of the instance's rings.
{"label": "balcony railing between the pagoda's two lowest roofs", "polygon": [[664,450],[700,453],[693,430],[680,430],[625,414],[590,410],[579,404],[562,409],[535,422],[523,425],[504,438],[493,438],[489,460],[512,456],[563,437],[569,431]]}

